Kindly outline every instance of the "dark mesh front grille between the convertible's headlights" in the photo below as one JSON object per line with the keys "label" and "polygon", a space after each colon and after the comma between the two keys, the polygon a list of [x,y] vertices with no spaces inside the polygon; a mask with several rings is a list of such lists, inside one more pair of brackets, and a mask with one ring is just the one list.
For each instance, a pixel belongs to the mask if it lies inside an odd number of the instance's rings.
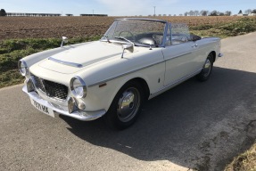
{"label": "dark mesh front grille between the convertible's headlights", "polygon": [[68,97],[68,87],[66,85],[54,83],[43,78],[31,75],[37,89],[40,89],[47,96],[57,99],[66,100]]}

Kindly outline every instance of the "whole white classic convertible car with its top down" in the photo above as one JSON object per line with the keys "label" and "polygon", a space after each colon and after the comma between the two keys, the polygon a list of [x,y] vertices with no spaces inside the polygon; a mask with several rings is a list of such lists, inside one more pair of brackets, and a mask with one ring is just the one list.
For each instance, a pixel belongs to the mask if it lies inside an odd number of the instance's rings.
{"label": "whole white classic convertible car with its top down", "polygon": [[186,24],[118,19],[101,40],[29,55],[19,61],[23,91],[37,110],[80,120],[132,125],[145,100],[190,77],[205,81],[222,56],[218,37],[189,34]]}

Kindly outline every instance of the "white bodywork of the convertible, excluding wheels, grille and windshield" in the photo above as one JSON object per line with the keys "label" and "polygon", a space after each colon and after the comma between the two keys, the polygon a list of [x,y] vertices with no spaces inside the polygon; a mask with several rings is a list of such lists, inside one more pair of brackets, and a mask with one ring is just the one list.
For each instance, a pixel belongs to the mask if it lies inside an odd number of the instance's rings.
{"label": "white bodywork of the convertible, excluding wheels, grille and windshield", "polygon": [[[68,97],[58,101],[40,91],[37,94],[30,93],[26,84],[23,91],[32,99],[33,95],[37,95],[39,102],[48,102],[47,107],[60,114],[81,120],[99,118],[109,110],[120,88],[131,79],[145,80],[149,88],[148,99],[151,99],[198,74],[209,53],[214,52],[218,59],[220,39],[202,38],[178,45],[155,47],[135,46],[133,53],[125,51],[121,58],[122,51],[121,45],[95,41],[32,54],[21,60],[26,62],[29,73],[66,85]],[[26,76],[25,83],[31,79],[30,74]],[[86,109],[69,113],[68,100],[74,97],[70,90],[70,79],[75,76],[81,77],[87,85],[87,96],[77,99],[77,102],[85,103]],[[53,107],[55,105],[59,109]]]}

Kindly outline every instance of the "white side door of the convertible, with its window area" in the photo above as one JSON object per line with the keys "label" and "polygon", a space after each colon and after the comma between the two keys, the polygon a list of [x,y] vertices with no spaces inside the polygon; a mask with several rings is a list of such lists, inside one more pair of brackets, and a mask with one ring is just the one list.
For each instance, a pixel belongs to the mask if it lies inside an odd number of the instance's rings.
{"label": "white side door of the convertible, with its window area", "polygon": [[167,34],[166,46],[162,49],[166,64],[164,85],[171,85],[189,77],[196,70],[197,45],[186,34]]}

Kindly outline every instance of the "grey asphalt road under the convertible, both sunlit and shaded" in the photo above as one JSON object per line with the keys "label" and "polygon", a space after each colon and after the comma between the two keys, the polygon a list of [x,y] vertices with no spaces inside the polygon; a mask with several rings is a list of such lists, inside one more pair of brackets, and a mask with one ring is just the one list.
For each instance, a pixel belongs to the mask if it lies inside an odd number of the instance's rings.
{"label": "grey asphalt road under the convertible, both sunlit and shaded", "polygon": [[256,137],[255,37],[223,39],[207,82],[147,102],[124,131],[48,117],[21,85],[0,89],[0,170],[223,170]]}

